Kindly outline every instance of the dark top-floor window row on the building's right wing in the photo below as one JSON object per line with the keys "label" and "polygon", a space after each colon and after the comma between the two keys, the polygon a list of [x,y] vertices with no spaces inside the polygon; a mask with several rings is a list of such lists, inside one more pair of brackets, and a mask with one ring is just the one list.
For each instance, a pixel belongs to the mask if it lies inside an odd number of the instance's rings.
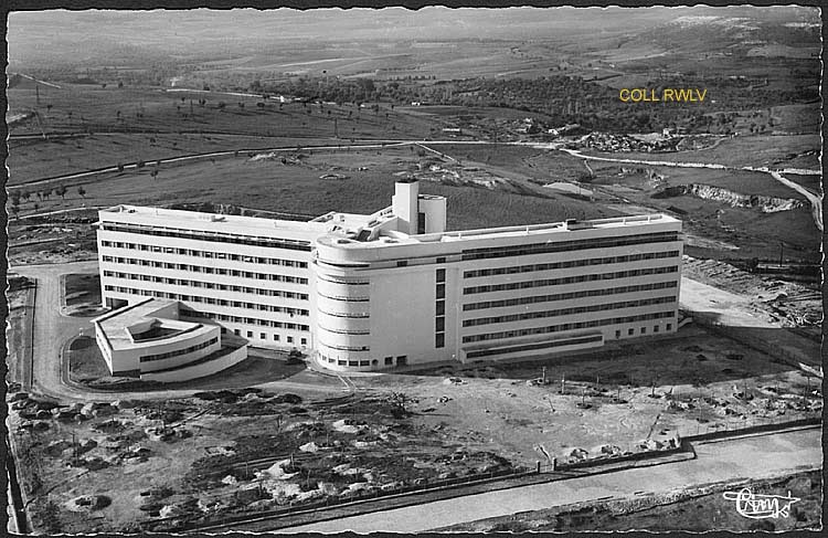
{"label": "dark top-floor window row on the building's right wing", "polygon": [[575,241],[532,243],[526,245],[492,246],[463,251],[463,261],[486,260],[492,257],[524,256],[551,252],[583,251],[587,249],[612,249],[614,246],[639,245],[679,241],[678,232],[643,233],[622,238],[595,238]]}

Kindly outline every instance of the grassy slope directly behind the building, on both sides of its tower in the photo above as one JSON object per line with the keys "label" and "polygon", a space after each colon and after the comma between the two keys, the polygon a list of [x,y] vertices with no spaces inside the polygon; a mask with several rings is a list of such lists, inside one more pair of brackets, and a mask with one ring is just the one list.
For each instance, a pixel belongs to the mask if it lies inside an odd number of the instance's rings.
{"label": "grassy slope directly behind the building, on both sides of its tower", "polygon": [[[310,151],[298,165],[279,159],[253,161],[231,157],[215,162],[192,162],[176,168],[159,168],[153,179],[150,167],[138,171],[112,173],[85,181],[85,198],[74,184],[65,199],[21,204],[21,214],[78,207],[178,202],[219,202],[275,212],[315,217],[328,211],[372,213],[386,207],[394,192],[393,173],[407,170],[420,157],[410,149]],[[297,152],[290,155],[296,156]],[[349,166],[350,165],[350,166]],[[320,179],[336,170],[347,179]],[[529,224],[563,219],[612,215],[613,211],[563,196],[535,198],[506,192],[448,187],[424,182],[422,191],[448,198],[450,229]]]}

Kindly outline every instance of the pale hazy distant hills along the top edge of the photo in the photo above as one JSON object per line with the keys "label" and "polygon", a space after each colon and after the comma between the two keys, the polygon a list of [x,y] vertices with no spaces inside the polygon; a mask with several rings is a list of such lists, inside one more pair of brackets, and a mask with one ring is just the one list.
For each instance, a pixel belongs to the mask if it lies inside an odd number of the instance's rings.
{"label": "pale hazy distant hills along the top edge of the photo", "polygon": [[7,39],[10,68],[25,71],[26,65],[199,63],[325,42],[566,40],[588,52],[613,35],[689,50],[728,46],[752,35],[722,22],[728,20],[771,29],[783,41],[809,40],[813,32],[818,39],[818,10],[797,7],[61,10],[9,13]]}

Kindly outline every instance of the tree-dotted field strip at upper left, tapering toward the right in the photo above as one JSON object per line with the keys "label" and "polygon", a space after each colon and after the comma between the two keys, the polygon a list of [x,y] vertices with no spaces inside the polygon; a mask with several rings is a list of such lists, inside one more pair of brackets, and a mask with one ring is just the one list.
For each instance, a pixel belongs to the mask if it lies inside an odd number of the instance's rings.
{"label": "tree-dotted field strip at upper left, tapering toward the right", "polygon": [[[374,113],[353,105],[280,104],[255,96],[219,92],[167,92],[161,88],[117,88],[62,84],[8,91],[9,114],[36,109],[11,135],[47,133],[230,133],[282,137],[425,137],[436,129],[423,116],[395,110]],[[199,99],[205,99],[202,106]],[[190,102],[192,101],[192,108]],[[222,106],[222,103],[224,104]],[[240,104],[244,105],[241,107]],[[261,107],[258,105],[262,105]],[[388,114],[388,116],[386,116]],[[336,126],[335,126],[336,119]]]}

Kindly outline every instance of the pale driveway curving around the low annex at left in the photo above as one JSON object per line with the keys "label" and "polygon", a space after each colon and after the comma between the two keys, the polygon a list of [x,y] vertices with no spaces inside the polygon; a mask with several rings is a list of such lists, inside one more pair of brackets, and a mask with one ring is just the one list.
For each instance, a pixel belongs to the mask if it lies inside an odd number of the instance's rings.
{"label": "pale driveway curving around the low annex at left", "polygon": [[[18,274],[36,278],[38,292],[35,296],[34,312],[30,309],[29,316],[34,317],[34,337],[32,349],[32,370],[34,392],[51,395],[61,401],[86,402],[115,401],[115,400],[167,400],[184,398],[202,389],[176,389],[153,390],[137,392],[99,392],[87,391],[79,387],[66,383],[65,371],[62,368],[60,357],[61,349],[66,340],[77,336],[82,330],[92,336],[92,317],[71,317],[61,314],[61,283],[60,276],[68,273],[94,273],[97,272],[97,261],[75,262],[63,264],[21,265],[10,267]],[[25,354],[20,354],[24,357]],[[23,368],[23,371],[26,369]],[[273,381],[258,387],[275,390],[318,390],[325,393],[342,392],[341,387],[314,386],[293,381]],[[350,387],[348,387],[351,390]]]}

